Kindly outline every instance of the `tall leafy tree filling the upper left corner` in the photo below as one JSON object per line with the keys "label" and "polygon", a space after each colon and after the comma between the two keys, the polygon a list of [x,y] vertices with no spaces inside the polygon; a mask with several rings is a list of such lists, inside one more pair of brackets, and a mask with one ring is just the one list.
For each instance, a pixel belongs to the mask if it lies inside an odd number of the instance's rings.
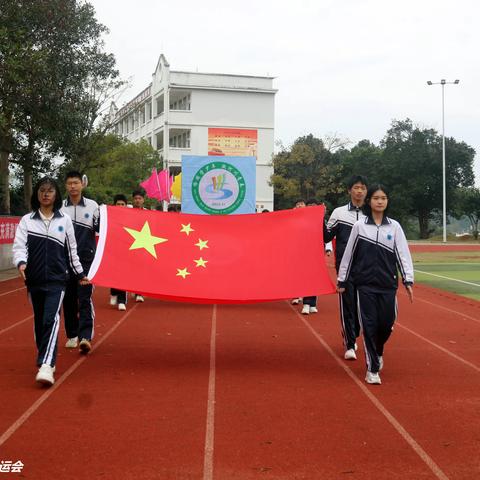
{"label": "tall leafy tree filling the upper left corner", "polygon": [[10,209],[10,159],[24,170],[29,198],[43,153],[65,154],[76,132],[91,131],[98,92],[115,86],[118,77],[113,56],[103,52],[105,32],[87,2],[2,2],[0,212]]}

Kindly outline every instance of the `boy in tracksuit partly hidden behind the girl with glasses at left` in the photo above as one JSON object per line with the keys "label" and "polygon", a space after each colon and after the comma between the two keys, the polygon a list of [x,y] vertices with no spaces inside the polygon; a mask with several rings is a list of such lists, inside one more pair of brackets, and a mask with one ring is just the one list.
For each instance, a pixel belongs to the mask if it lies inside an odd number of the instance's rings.
{"label": "boy in tracksuit partly hidden behind the girl with glasses at left", "polygon": [[[62,211],[70,216],[75,229],[77,251],[83,270],[88,272],[96,250],[95,232],[99,229],[98,204],[82,195],[82,174],[77,171],[67,173],[65,185],[68,197],[63,202]],[[95,310],[92,300],[93,285],[67,284],[63,300],[65,330],[68,337],[65,347],[80,348],[88,353],[94,334]]]}

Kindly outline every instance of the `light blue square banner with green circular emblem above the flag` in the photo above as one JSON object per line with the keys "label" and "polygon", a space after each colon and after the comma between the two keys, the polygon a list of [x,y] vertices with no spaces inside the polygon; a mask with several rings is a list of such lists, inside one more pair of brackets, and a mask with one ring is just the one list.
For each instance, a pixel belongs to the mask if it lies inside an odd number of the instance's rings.
{"label": "light blue square banner with green circular emblem above the flag", "polygon": [[182,212],[255,213],[255,157],[182,155]]}

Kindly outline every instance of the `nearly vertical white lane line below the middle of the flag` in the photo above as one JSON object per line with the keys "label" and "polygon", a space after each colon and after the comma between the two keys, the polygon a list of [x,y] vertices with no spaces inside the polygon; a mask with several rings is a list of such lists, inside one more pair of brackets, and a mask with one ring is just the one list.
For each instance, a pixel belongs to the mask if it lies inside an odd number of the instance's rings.
{"label": "nearly vertical white lane line below the middle of the flag", "polygon": [[210,373],[208,377],[207,428],[205,434],[205,456],[203,480],[213,479],[213,447],[215,432],[215,348],[217,339],[217,306],[213,306],[212,332],[210,335]]}

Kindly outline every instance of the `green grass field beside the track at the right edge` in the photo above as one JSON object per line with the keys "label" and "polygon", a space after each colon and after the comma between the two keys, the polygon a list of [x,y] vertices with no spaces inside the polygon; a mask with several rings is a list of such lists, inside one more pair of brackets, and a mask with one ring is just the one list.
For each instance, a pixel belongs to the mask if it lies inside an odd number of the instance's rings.
{"label": "green grass field beside the track at the right edge", "polygon": [[480,301],[480,252],[414,253],[415,282]]}

